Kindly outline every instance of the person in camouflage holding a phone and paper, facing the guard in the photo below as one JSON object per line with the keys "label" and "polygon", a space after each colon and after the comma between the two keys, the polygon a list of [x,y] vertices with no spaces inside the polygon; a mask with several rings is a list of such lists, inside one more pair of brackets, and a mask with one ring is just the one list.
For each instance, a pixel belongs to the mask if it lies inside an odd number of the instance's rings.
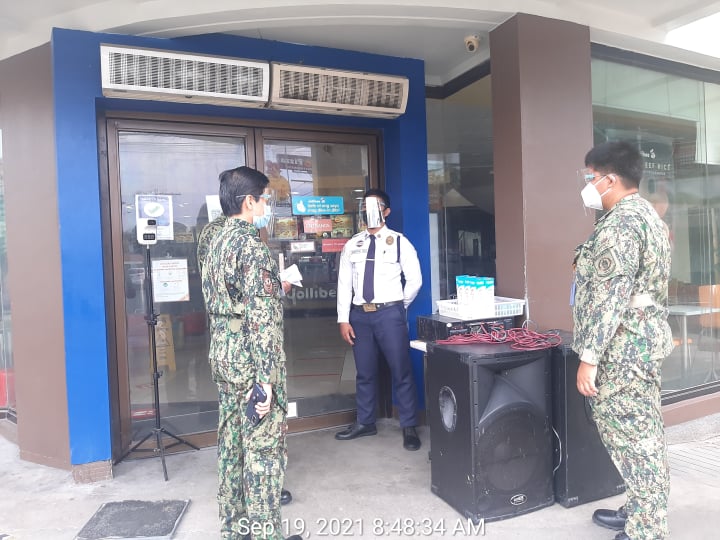
{"label": "person in camouflage holding a phone and paper, facing the guard", "polygon": [[[258,229],[270,216],[267,186],[267,177],[249,167],[221,173],[227,220],[200,262],[219,393],[220,527],[228,540],[283,538],[287,396],[280,291],[289,284],[281,283],[277,263],[260,240]],[[268,396],[256,406],[262,416],[256,427],[245,416],[254,382]]]}

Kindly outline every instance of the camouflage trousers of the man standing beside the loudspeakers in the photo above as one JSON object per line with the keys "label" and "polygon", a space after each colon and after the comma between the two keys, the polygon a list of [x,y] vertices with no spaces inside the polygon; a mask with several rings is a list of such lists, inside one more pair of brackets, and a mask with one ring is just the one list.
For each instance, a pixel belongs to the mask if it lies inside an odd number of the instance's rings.
{"label": "camouflage trousers of the man standing beside the loudspeakers", "polygon": [[670,470],[660,409],[660,375],[638,377],[614,364],[598,369],[593,419],[610,457],[625,481],[627,521],[632,540],[668,537]]}

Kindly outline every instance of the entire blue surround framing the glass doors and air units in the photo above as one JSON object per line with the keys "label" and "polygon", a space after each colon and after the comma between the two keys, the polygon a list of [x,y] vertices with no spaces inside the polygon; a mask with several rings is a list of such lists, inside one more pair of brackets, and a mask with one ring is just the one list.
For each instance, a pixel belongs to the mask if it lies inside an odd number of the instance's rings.
{"label": "entire blue surround framing the glass doors and air units", "polygon": [[[410,80],[408,108],[400,118],[385,120],[104,98],[100,78],[101,43],[404,75]],[[108,321],[103,289],[96,133],[96,119],[104,110],[197,114],[382,130],[386,184],[393,202],[390,226],[404,231],[417,248],[425,279],[425,286],[413,303],[408,318],[414,336],[416,316],[432,311],[422,61],[222,34],[155,39],[63,29],[53,30],[52,50],[70,456],[73,464],[111,457]],[[423,379],[419,355],[413,356],[413,364],[420,390]]]}

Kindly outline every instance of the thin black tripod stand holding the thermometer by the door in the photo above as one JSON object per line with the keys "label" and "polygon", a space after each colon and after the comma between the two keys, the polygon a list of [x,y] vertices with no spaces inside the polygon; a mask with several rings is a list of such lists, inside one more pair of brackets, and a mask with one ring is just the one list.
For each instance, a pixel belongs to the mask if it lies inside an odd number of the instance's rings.
{"label": "thin black tripod stand holding the thermometer by the door", "polygon": [[[165,449],[166,448],[172,448],[173,446],[176,446],[178,444],[185,444],[189,446],[190,448],[194,450],[199,450],[197,446],[194,444],[190,444],[185,439],[181,439],[177,435],[174,435],[173,433],[170,433],[167,429],[162,427],[160,424],[160,390],[158,385],[158,380],[160,377],[162,377],[162,371],[158,371],[157,369],[157,351],[155,349],[155,326],[157,325],[157,315],[155,314],[155,308],[153,303],[153,287],[152,287],[152,267],[150,262],[150,246],[145,246],[145,290],[147,297],[145,299],[146,305],[147,305],[147,313],[146,313],[146,321],[148,324],[148,334],[150,335],[150,358],[152,360],[152,385],[153,385],[153,406],[155,408],[155,427],[150,430],[150,432],[145,435],[140,441],[135,444],[130,450],[127,451],[127,453],[122,457],[124,459],[126,456],[128,456],[131,452],[154,452],[160,454],[160,459],[162,460],[163,464],[163,475],[165,476],[165,481],[167,481],[167,467],[165,466]],[[163,435],[167,435],[168,437],[171,437],[175,439],[175,442],[172,444],[165,446],[163,443]],[[140,448],[142,444],[147,441],[150,437],[155,437],[155,448]]]}

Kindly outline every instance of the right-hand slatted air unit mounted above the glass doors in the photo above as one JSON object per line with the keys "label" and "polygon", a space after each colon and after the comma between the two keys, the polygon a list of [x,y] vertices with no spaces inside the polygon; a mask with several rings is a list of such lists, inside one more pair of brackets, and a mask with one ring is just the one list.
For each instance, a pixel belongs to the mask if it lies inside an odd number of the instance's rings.
{"label": "right-hand slatted air unit mounted above the glass doors", "polygon": [[273,62],[270,106],[395,118],[405,112],[408,88],[406,77]]}

